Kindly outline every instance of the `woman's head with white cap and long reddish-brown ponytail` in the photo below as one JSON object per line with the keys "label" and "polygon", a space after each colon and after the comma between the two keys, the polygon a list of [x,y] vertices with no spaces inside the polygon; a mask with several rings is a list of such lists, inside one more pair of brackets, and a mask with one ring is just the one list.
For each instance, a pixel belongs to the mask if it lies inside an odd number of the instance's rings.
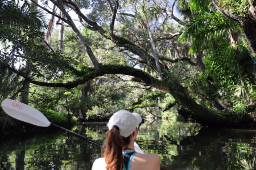
{"label": "woman's head with white cap and long reddish-brown ponytail", "polygon": [[125,110],[114,113],[110,118],[104,152],[106,169],[122,169],[122,149],[129,145],[131,134],[141,121],[142,118],[138,113]]}

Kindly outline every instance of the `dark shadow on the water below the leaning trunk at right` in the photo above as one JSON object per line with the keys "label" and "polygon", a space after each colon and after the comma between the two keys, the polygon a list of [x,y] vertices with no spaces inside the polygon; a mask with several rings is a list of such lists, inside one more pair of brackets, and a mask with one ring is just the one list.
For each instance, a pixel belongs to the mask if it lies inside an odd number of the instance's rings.
{"label": "dark shadow on the water below the leaning trunk at right", "polygon": [[256,168],[255,141],[256,130],[202,128],[180,141],[179,155],[163,169],[242,169],[241,162]]}

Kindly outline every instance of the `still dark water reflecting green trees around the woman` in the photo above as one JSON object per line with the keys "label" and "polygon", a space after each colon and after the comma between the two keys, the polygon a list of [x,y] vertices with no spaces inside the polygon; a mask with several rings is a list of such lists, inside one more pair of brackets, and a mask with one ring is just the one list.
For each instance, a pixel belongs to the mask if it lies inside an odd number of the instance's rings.
{"label": "still dark water reflecting green trees around the woman", "polygon": [[[76,133],[103,143],[106,123],[85,123]],[[256,169],[256,130],[202,128],[173,120],[148,120],[137,143],[158,154],[162,169]],[[0,169],[91,169],[101,148],[46,128],[42,134],[0,141]]]}

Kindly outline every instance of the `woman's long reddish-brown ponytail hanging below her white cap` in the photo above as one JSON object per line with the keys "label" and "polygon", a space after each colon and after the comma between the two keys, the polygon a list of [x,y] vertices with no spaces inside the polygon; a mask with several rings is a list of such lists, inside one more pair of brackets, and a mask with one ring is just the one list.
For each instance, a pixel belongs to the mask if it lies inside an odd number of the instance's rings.
{"label": "woman's long reddish-brown ponytail hanging below her white cap", "polygon": [[124,146],[130,143],[129,137],[121,137],[118,126],[108,130],[106,133],[106,143],[104,148],[104,157],[106,162],[106,169],[108,170],[121,170],[123,167],[123,154]]}

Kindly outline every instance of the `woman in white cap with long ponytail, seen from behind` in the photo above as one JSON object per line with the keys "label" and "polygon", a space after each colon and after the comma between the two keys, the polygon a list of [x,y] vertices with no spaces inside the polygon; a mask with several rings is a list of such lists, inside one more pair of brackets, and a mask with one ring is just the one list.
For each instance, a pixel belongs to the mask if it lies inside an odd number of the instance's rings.
{"label": "woman in white cap with long ponytail, seen from behind", "polygon": [[114,113],[108,123],[104,158],[96,159],[92,170],[159,170],[158,155],[135,151],[137,126],[141,121],[142,118],[138,113],[125,110]]}

